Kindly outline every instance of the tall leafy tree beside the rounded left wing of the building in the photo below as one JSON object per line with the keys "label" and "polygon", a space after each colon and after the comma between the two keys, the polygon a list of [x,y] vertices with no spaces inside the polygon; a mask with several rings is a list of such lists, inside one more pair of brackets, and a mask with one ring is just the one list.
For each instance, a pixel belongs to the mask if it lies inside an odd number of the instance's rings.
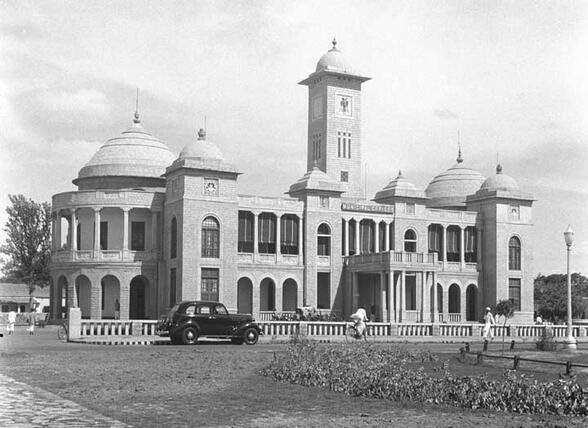
{"label": "tall leafy tree beside the rounded left wing of the building", "polygon": [[5,279],[24,282],[32,293],[49,284],[51,258],[51,206],[23,195],[8,195],[6,243],[0,252],[8,256],[2,270]]}

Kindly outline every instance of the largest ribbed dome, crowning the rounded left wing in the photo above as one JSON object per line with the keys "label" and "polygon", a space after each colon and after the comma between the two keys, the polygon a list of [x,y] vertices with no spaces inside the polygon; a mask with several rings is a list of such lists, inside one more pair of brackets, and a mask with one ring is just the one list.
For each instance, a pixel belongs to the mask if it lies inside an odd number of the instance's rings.
{"label": "largest ribbed dome, crowning the rounded left wing", "polygon": [[[173,160],[174,155],[169,148],[145,131],[139,114],[135,113],[133,124],[119,136],[106,141],[80,169],[78,178],[73,182],[80,188],[163,185],[161,176]],[[112,179],[113,177],[117,179]],[[126,186],[125,180],[120,177],[135,179],[128,180]]]}

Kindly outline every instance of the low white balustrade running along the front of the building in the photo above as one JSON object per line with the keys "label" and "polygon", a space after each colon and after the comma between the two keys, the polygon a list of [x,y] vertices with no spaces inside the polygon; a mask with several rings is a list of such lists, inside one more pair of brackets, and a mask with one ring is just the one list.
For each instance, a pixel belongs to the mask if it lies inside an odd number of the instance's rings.
{"label": "low white balustrade running along the front of the building", "polygon": [[[156,320],[87,320],[70,317],[70,337],[96,336],[156,336]],[[343,337],[348,322],[328,321],[260,321],[264,336],[287,338],[295,335],[318,338]],[[462,323],[367,323],[368,334],[376,338],[481,338],[482,324]],[[546,329],[556,338],[566,337],[566,326],[547,325],[494,325],[494,336],[510,339],[538,339]],[[580,341],[588,341],[588,325],[575,325],[574,336]]]}

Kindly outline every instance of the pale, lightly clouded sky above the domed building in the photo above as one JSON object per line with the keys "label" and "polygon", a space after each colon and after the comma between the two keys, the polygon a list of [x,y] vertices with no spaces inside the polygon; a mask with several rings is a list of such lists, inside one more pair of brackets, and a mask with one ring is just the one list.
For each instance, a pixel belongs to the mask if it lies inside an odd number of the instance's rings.
{"label": "pale, lightly clouded sky above the domed building", "polygon": [[[588,3],[0,0],[0,207],[50,201],[132,121],[175,154],[207,122],[239,192],[306,172],[307,88],[337,47],[362,90],[369,195],[497,158],[534,195],[534,274],[588,273]],[[4,210],[0,223],[6,223]],[[0,233],[0,240],[5,234]]]}

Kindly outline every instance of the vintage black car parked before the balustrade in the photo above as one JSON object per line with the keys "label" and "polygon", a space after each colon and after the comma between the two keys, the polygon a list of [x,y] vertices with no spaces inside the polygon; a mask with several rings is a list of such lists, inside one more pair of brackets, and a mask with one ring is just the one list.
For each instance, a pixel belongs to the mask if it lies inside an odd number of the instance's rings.
{"label": "vintage black car parked before the balustrade", "polygon": [[157,334],[169,336],[173,344],[193,345],[206,337],[255,345],[262,330],[251,315],[229,314],[222,303],[184,301],[160,320]]}

